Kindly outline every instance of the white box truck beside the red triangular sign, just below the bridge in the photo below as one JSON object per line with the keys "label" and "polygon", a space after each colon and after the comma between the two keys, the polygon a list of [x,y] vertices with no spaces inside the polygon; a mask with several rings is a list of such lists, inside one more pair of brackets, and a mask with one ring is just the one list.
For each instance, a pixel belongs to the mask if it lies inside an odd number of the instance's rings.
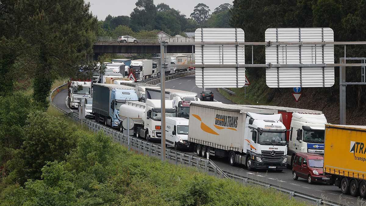
{"label": "white box truck beside the red triangular sign, just below the bridge", "polygon": [[153,60],[136,59],[131,61],[130,68],[134,70],[136,80],[150,78],[153,74]]}

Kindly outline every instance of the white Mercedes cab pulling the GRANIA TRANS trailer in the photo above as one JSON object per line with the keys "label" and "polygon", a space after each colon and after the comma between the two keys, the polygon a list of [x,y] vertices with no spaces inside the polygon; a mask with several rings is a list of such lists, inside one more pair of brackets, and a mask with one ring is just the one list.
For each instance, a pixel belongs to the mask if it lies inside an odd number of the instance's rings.
{"label": "white Mercedes cab pulling the GRANIA TRANS trailer", "polygon": [[281,114],[247,113],[243,146],[243,153],[251,157],[246,159],[247,168],[286,169],[286,128],[280,120]]}

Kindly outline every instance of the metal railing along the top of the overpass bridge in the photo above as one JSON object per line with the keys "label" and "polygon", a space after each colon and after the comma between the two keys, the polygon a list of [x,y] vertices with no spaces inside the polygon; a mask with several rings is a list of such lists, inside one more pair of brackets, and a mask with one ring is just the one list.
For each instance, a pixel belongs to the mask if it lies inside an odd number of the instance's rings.
{"label": "metal railing along the top of the overpass bridge", "polygon": [[[119,40],[119,37],[95,37],[95,41],[102,41],[102,42],[120,42],[120,43],[132,43],[132,41],[129,40]],[[160,43],[162,41],[167,42],[194,42],[193,38],[187,38],[187,37],[171,37],[171,38],[154,38],[154,37],[142,37],[137,38],[137,43],[143,42],[143,43]]]}

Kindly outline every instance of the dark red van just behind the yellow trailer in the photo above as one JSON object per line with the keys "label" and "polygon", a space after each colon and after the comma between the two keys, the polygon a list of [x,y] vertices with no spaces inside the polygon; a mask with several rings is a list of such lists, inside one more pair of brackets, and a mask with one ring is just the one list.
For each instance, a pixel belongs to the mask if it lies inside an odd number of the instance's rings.
{"label": "dark red van just behind the yellow trailer", "polygon": [[313,153],[297,153],[292,166],[292,178],[307,179],[309,184],[315,182],[332,184],[331,176],[323,174],[324,156]]}

